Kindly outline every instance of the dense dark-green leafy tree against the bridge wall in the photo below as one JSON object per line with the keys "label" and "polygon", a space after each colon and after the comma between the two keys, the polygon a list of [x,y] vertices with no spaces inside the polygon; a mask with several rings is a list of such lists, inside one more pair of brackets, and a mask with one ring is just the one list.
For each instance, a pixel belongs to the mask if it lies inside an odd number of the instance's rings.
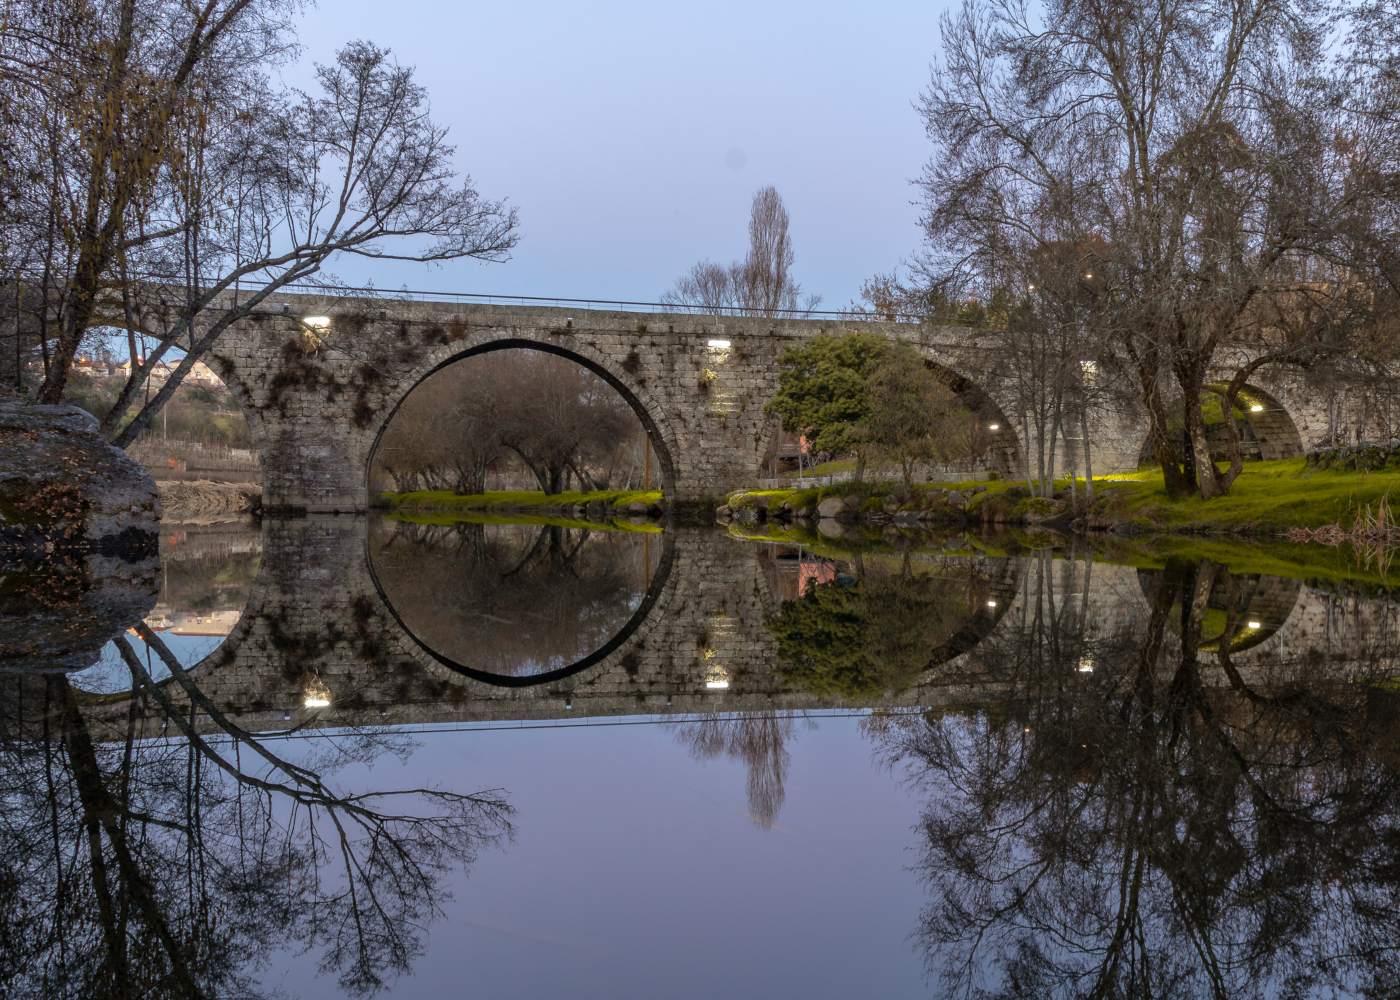
{"label": "dense dark-green leafy tree against the bridge wall", "polygon": [[788,433],[804,434],[813,451],[855,454],[855,478],[864,471],[871,412],[871,375],[889,340],[878,333],[820,336],[788,347],[778,359],[778,391],[766,410]]}

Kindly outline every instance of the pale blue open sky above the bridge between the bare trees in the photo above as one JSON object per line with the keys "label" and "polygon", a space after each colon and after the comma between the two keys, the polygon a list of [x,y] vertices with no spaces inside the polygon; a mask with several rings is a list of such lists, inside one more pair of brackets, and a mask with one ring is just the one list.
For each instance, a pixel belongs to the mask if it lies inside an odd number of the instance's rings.
{"label": "pale blue open sky above the bridge between the bare trees", "polygon": [[795,272],[839,308],[918,244],[911,104],[946,3],[322,0],[307,62],[368,38],[414,64],[461,167],[521,211],[514,259],[342,262],[381,287],[654,300],[742,254],[773,183]]}

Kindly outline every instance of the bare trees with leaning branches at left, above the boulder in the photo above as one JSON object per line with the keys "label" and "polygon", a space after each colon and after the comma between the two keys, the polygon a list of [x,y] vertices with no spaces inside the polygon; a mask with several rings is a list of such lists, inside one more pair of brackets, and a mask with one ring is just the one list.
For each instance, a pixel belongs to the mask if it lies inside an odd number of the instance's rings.
{"label": "bare trees with leaning branches at left, above the boulder", "polygon": [[[84,335],[119,322],[134,371],[105,422],[118,444],[230,324],[335,255],[497,261],[515,242],[514,210],[456,175],[423,88],[386,50],[347,45],[315,94],[273,85],[262,67],[294,50],[294,8],[6,7],[4,141],[34,150],[6,256],[17,284],[39,289],[27,317],[45,350],[39,398],[62,399]],[[155,340],[144,357],[136,331]],[[172,350],[172,378],[123,427]]]}

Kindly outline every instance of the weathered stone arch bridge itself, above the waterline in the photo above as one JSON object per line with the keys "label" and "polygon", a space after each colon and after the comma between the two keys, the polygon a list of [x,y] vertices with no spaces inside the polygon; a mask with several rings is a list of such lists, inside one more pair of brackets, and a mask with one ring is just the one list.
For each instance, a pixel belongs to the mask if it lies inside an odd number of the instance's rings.
{"label": "weathered stone arch bridge itself, above the waterline", "polygon": [[[444,364],[501,347],[561,354],[606,378],[657,444],[666,492],[693,501],[756,482],[783,350],[854,329],[917,345],[973,412],[994,465],[1019,469],[1022,448],[1036,452],[1005,416],[997,346],[965,328],[281,294],[232,324],[209,363],[248,415],[269,507],[364,510],[374,444],[405,395]],[[1322,401],[1294,381],[1266,380],[1247,402],[1267,455],[1298,454],[1326,431]],[[1091,434],[1098,471],[1137,466],[1140,415],[1099,417]]]}

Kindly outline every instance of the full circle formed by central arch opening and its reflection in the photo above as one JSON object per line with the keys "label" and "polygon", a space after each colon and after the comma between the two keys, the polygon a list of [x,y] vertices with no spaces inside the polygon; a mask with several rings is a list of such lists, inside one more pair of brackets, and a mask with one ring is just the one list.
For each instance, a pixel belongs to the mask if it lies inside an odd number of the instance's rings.
{"label": "full circle formed by central arch opening and its reflection", "polygon": [[417,650],[484,683],[596,665],[641,626],[669,574],[669,534],[577,507],[599,490],[673,489],[659,427],[619,374],[553,343],[496,340],[437,364],[389,412],[367,476],[371,496],[420,503],[430,490],[517,511],[400,506],[368,539],[374,584]]}

